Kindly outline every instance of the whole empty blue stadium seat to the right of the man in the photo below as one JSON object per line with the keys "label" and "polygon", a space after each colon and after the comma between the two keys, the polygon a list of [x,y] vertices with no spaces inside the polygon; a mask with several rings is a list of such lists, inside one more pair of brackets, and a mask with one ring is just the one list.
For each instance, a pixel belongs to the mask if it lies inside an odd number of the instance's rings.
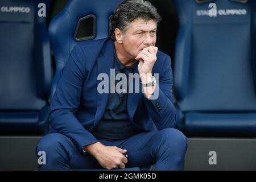
{"label": "whole empty blue stadium seat to the right of the man", "polygon": [[175,6],[176,127],[191,136],[255,137],[256,2],[175,0]]}

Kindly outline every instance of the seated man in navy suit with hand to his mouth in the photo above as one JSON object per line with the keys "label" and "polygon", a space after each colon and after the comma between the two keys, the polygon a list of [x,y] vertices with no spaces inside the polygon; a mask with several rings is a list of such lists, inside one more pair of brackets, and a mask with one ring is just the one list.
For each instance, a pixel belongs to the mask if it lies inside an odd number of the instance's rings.
{"label": "seated man in navy suit with hand to his mouth", "polygon": [[171,59],[155,47],[160,19],[149,2],[123,1],[111,39],[73,48],[51,101],[51,132],[36,148],[46,152],[39,169],[184,169]]}

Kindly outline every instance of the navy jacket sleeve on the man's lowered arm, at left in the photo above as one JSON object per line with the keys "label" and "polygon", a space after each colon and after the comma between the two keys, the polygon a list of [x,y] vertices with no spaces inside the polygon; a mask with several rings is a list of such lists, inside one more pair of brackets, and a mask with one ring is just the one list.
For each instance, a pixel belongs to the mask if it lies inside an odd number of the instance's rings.
{"label": "navy jacket sleeve on the man's lowered arm, at left", "polygon": [[98,142],[75,116],[86,77],[85,68],[85,55],[82,49],[76,46],[61,71],[49,114],[51,127],[71,138],[79,151],[83,146]]}

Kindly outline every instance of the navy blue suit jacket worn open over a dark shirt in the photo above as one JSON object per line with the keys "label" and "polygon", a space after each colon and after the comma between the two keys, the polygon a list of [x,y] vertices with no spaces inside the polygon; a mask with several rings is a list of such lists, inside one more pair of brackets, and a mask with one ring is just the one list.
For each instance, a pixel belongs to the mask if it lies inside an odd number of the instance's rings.
{"label": "navy blue suit jacket worn open over a dark shirt", "polygon": [[[148,100],[141,92],[129,93],[127,98],[129,121],[146,131],[174,127],[176,119],[171,59],[160,51],[156,56],[152,73],[159,73],[158,99]],[[80,151],[98,142],[90,131],[100,122],[109,94],[97,92],[97,76],[106,73],[110,78],[113,65],[114,42],[107,38],[77,44],[61,71],[49,120],[52,129],[71,138]]]}

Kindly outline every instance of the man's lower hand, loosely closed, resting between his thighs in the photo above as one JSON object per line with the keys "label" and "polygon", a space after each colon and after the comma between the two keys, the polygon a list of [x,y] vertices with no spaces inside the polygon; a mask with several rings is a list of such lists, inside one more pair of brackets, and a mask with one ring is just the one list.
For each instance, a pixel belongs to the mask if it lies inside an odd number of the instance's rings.
{"label": "man's lower hand, loosely closed, resting between his thighs", "polygon": [[84,148],[92,154],[105,169],[125,168],[128,162],[123,155],[127,151],[115,146],[104,146],[100,142],[90,144]]}

